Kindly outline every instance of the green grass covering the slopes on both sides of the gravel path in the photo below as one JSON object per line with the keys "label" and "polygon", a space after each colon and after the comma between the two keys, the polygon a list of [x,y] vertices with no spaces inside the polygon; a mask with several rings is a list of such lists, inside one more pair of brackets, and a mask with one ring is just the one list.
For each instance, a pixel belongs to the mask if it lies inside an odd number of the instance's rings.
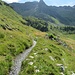
{"label": "green grass covering the slopes on both sides of the gravel path", "polygon": [[19,75],[60,75],[61,67],[57,64],[67,67],[65,75],[75,72],[75,35],[65,35],[56,30],[49,32],[58,34],[60,40],[68,45],[65,47],[56,40],[45,38],[47,33],[26,26],[20,15],[4,2],[0,3],[0,75],[9,74],[12,60],[32,46],[32,39],[37,41],[37,45],[22,63]]}

